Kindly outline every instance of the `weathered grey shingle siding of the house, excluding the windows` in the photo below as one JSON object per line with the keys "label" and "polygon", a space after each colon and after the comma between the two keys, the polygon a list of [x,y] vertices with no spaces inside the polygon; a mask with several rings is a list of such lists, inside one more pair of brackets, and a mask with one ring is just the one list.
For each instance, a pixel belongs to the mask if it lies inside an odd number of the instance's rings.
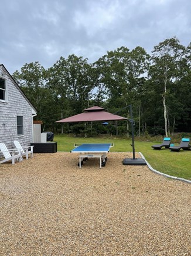
{"label": "weathered grey shingle siding of the house, excluding the windows", "polygon": [[[0,76],[1,69],[0,66]],[[32,107],[8,74],[4,74],[2,78],[7,81],[8,101],[0,101],[0,142],[4,142],[8,148],[14,147],[14,140],[18,140],[21,145],[30,145],[32,142]],[[23,116],[23,136],[17,135],[17,115]]]}

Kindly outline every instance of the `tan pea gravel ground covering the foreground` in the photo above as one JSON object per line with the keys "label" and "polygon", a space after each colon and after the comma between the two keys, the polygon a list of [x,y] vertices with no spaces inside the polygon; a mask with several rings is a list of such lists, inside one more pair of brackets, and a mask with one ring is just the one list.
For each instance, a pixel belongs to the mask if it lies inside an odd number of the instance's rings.
{"label": "tan pea gravel ground covering the foreground", "polygon": [[101,169],[68,152],[0,165],[0,255],[191,255],[191,185],[126,157],[110,152]]}

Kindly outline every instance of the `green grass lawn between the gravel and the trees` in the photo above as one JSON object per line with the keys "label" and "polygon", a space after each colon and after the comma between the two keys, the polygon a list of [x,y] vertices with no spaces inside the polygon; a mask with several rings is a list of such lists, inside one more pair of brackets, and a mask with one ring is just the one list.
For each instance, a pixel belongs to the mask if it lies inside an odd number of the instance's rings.
{"label": "green grass lawn between the gravel and the trees", "polygon": [[[105,138],[79,138],[69,137],[67,135],[54,135],[54,141],[57,141],[58,151],[69,152],[74,148],[75,143],[108,143],[114,142],[114,147],[110,152],[132,152],[131,139],[122,139],[115,137]],[[155,150],[151,146],[161,141],[136,141],[135,151],[141,152],[146,161],[152,168],[175,177],[191,180],[191,151],[172,152],[169,149]]]}

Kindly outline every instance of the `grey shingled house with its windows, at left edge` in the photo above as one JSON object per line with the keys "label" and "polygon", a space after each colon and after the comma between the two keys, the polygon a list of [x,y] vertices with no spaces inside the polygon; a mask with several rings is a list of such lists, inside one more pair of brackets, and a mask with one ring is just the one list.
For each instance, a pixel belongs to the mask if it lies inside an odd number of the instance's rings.
{"label": "grey shingled house with its windows, at left edge", "polygon": [[0,64],[0,142],[4,142],[7,148],[14,147],[14,140],[30,145],[35,116],[35,107],[5,66]]}

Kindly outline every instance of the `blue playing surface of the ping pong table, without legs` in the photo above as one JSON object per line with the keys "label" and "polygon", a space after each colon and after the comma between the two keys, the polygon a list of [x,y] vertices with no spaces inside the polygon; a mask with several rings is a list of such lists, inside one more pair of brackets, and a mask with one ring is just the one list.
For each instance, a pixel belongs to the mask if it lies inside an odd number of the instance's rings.
{"label": "blue playing surface of the ping pong table, without legs", "polygon": [[100,152],[109,152],[112,147],[111,143],[90,143],[90,144],[81,144],[79,147],[72,149],[70,152],[91,152],[91,153],[100,153]]}

